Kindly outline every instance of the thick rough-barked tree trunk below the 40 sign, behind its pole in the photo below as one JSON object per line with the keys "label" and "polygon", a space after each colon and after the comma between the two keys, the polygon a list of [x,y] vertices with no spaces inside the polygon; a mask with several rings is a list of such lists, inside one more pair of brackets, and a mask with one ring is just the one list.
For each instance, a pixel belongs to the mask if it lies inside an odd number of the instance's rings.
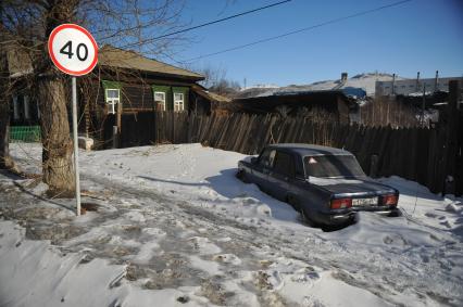
{"label": "thick rough-barked tree trunk below the 40 sign, behind its pole", "polygon": [[49,76],[37,82],[41,114],[42,172],[49,195],[73,196],[73,142],[66,110],[64,79]]}

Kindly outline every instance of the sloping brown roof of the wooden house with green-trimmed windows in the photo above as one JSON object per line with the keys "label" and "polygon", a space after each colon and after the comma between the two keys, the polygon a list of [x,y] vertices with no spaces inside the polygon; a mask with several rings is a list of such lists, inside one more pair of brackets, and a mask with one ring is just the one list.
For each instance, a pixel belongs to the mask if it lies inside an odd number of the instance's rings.
{"label": "sloping brown roof of the wooden house with green-trimmed windows", "polygon": [[111,67],[137,69],[159,75],[175,76],[196,81],[204,79],[204,76],[200,74],[175,67],[157,60],[148,59],[135,51],[126,51],[109,44],[103,46],[99,50],[98,64]]}

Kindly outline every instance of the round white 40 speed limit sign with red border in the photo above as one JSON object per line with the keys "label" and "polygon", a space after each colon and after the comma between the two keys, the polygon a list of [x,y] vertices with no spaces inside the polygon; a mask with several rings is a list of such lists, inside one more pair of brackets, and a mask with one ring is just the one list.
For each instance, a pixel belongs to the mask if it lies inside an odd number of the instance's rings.
{"label": "round white 40 speed limit sign with red border", "polygon": [[90,73],[98,62],[98,46],[93,37],[74,24],[63,24],[51,31],[48,52],[53,64],[72,76]]}

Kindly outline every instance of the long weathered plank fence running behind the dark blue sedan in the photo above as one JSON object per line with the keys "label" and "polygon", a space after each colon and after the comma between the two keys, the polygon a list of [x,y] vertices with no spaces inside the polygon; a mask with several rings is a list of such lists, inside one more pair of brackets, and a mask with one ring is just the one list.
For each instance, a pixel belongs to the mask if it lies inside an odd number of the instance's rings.
{"label": "long weathered plank fence running behind the dark blue sedan", "polygon": [[[112,131],[112,125],[114,120],[107,120],[105,136],[111,135],[108,131]],[[352,152],[366,174],[400,176],[435,193],[445,191],[445,180],[452,175],[454,190],[463,193],[463,171],[455,171],[462,165],[462,142],[458,145],[458,157],[446,157],[445,129],[365,127],[275,115],[147,112],[122,116],[120,148],[195,142],[250,155],[260,153],[270,143],[335,146]],[[455,159],[451,164],[453,170],[447,165],[448,158]]]}

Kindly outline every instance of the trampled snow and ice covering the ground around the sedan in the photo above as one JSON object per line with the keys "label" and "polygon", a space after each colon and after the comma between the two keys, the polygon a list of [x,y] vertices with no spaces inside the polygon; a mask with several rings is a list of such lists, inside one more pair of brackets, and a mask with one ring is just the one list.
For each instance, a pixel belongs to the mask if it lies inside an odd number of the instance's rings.
{"label": "trampled snow and ice covering the ground around the sedan", "polygon": [[[38,171],[41,148],[12,144]],[[0,306],[462,306],[462,199],[401,178],[403,215],[323,232],[200,144],[80,152],[83,202],[0,174]],[[89,205],[87,205],[89,207]]]}

